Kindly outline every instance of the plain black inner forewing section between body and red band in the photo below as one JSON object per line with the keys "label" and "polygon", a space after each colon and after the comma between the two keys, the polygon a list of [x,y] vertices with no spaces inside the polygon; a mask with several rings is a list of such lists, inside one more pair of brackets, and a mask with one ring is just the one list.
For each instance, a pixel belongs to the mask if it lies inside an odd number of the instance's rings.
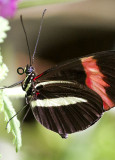
{"label": "plain black inner forewing section between body and red band", "polygon": [[85,85],[86,73],[81,60],[76,58],[46,70],[35,79],[40,82],[45,80],[68,80]]}

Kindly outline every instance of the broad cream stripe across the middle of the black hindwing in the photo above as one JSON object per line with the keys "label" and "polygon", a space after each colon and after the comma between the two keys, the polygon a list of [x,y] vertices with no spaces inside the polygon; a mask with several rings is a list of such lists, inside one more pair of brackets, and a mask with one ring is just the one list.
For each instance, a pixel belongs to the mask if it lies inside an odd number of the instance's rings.
{"label": "broad cream stripe across the middle of the black hindwing", "polygon": [[60,98],[51,98],[51,99],[37,99],[31,102],[31,107],[34,108],[36,106],[39,107],[59,107],[59,106],[67,106],[76,103],[87,102],[86,99],[79,97],[60,97]]}

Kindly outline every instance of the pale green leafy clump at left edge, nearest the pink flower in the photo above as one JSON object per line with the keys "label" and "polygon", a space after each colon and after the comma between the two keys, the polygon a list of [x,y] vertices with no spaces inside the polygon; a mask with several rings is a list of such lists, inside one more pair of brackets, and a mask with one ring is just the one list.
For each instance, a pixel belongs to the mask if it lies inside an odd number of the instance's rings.
{"label": "pale green leafy clump at left edge, nearest the pink flower", "polygon": [[4,39],[7,37],[6,31],[8,30],[10,30],[8,20],[0,17],[0,43],[4,42]]}

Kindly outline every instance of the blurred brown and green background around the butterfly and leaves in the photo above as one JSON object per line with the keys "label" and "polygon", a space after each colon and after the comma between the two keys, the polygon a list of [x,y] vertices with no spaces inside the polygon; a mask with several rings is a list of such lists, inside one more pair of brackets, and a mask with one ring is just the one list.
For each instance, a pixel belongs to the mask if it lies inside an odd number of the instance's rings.
{"label": "blurred brown and green background around the butterfly and leaves", "polygon": [[[23,2],[24,0],[22,0]],[[26,0],[27,2],[27,0]],[[4,62],[9,74],[2,85],[13,84],[24,77],[17,75],[19,66],[29,62],[25,35],[20,14],[33,53],[42,12],[47,8],[35,58],[36,72],[67,59],[83,56],[115,47],[115,1],[85,0],[56,1],[26,9],[19,9],[10,20],[11,30],[2,45]],[[25,105],[24,98],[11,99],[18,111]],[[18,117],[22,121],[26,111]],[[15,153],[12,135],[7,134],[6,124],[0,115],[0,153],[3,160],[114,160],[115,159],[115,111],[104,114],[89,129],[62,139],[38,124],[30,112],[21,123],[23,146]]]}

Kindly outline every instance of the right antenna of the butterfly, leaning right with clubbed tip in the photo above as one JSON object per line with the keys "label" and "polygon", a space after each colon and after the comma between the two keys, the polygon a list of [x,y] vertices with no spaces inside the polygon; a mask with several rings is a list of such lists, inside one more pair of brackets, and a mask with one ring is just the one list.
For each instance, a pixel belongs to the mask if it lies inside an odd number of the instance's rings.
{"label": "right antenna of the butterfly, leaning right with clubbed tip", "polygon": [[42,29],[43,17],[44,17],[44,14],[45,14],[46,10],[47,10],[47,9],[44,9],[44,11],[43,11],[43,13],[42,13],[42,19],[41,19],[41,23],[40,23],[39,33],[38,33],[38,37],[37,37],[37,41],[36,41],[34,53],[33,53],[33,56],[32,56],[32,64],[33,64],[33,62],[34,62],[34,56],[35,56],[36,49],[37,49],[37,46],[38,46],[38,42],[39,42],[39,39],[40,39],[40,33],[41,33],[41,29]]}

